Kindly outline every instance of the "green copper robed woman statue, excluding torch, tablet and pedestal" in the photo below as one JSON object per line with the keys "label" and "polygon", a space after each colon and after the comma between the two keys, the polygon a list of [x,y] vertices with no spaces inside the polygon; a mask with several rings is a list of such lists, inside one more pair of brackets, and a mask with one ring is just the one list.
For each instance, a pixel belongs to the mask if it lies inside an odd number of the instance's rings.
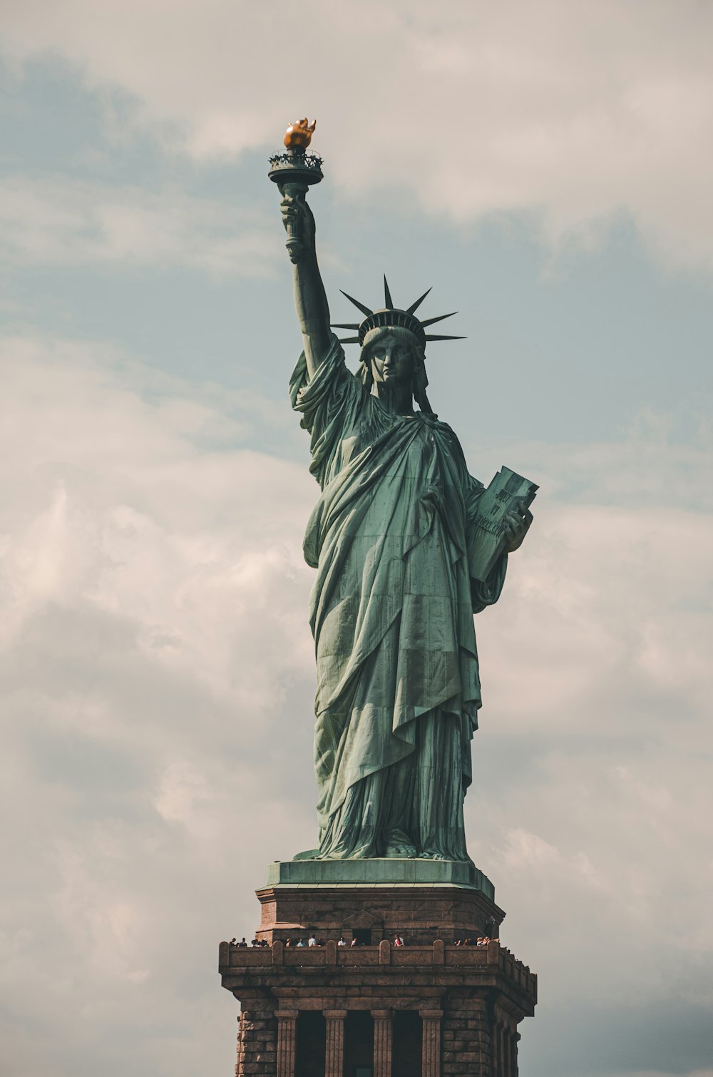
{"label": "green copper robed woman statue, excluding torch, tablet and pedestal", "polygon": [[[394,309],[388,289],[386,310],[358,304],[366,317],[352,374],[330,327],[311,210],[300,194],[281,205],[303,243],[304,352],[290,393],[321,488],[304,542],[317,570],[320,845],[298,858],[467,862],[463,798],[480,705],[473,614],[498,601],[507,551],[486,583],[469,572],[484,487],[429,404],[417,304]],[[525,505],[507,515],[507,550],[531,520]]]}

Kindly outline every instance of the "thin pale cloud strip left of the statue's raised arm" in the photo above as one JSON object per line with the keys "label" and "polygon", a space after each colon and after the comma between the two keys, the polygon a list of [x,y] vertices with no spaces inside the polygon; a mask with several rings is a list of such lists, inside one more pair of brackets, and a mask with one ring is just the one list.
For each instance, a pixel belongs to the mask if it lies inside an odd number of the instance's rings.
{"label": "thin pale cloud strip left of the statue's raised arm", "polygon": [[0,248],[11,264],[168,264],[214,277],[269,274],[276,253],[256,211],[180,191],[24,174],[0,181]]}

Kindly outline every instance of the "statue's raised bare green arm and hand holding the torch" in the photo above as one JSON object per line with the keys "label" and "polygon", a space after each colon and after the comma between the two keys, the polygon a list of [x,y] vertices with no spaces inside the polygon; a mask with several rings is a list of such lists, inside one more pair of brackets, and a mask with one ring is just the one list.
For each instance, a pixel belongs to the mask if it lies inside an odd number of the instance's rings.
{"label": "statue's raised bare green arm and hand holding the torch", "polygon": [[332,342],[330,308],[317,263],[314,216],[305,195],[299,193],[285,192],[281,210],[285,229],[290,226],[302,241],[302,252],[293,267],[294,299],[304,341],[307,373],[311,378],[325,359]]}

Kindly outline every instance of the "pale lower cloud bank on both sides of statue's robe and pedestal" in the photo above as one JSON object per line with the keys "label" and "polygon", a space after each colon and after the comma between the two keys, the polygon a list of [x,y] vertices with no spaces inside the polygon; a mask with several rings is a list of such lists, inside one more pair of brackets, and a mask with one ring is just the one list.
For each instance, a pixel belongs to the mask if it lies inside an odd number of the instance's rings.
{"label": "pale lower cloud bank on both sides of statue's robe and pedestal", "polygon": [[[286,408],[103,345],[6,339],[0,360],[5,1068],[227,1072],[215,946],[314,837],[306,446]],[[249,448],[256,422],[282,456]],[[541,976],[533,1077],[646,1073],[656,1035],[661,1068],[707,1065],[686,1024],[713,950],[712,524],[686,485],[707,449],[637,436],[675,505],[638,500],[629,442],[568,454],[576,498],[543,484],[478,617],[470,848]]]}

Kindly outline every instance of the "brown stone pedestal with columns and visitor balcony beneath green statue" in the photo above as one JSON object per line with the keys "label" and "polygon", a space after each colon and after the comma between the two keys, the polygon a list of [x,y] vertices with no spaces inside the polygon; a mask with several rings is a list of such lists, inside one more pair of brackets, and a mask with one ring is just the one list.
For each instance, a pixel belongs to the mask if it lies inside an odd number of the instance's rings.
{"label": "brown stone pedestal with columns and visitor balcony beneath green statue", "polygon": [[[237,1077],[517,1077],[536,977],[498,941],[456,945],[498,935],[483,889],[277,881],[257,897],[269,946],[220,947],[242,1006]],[[310,935],[324,945],[296,946]]]}

